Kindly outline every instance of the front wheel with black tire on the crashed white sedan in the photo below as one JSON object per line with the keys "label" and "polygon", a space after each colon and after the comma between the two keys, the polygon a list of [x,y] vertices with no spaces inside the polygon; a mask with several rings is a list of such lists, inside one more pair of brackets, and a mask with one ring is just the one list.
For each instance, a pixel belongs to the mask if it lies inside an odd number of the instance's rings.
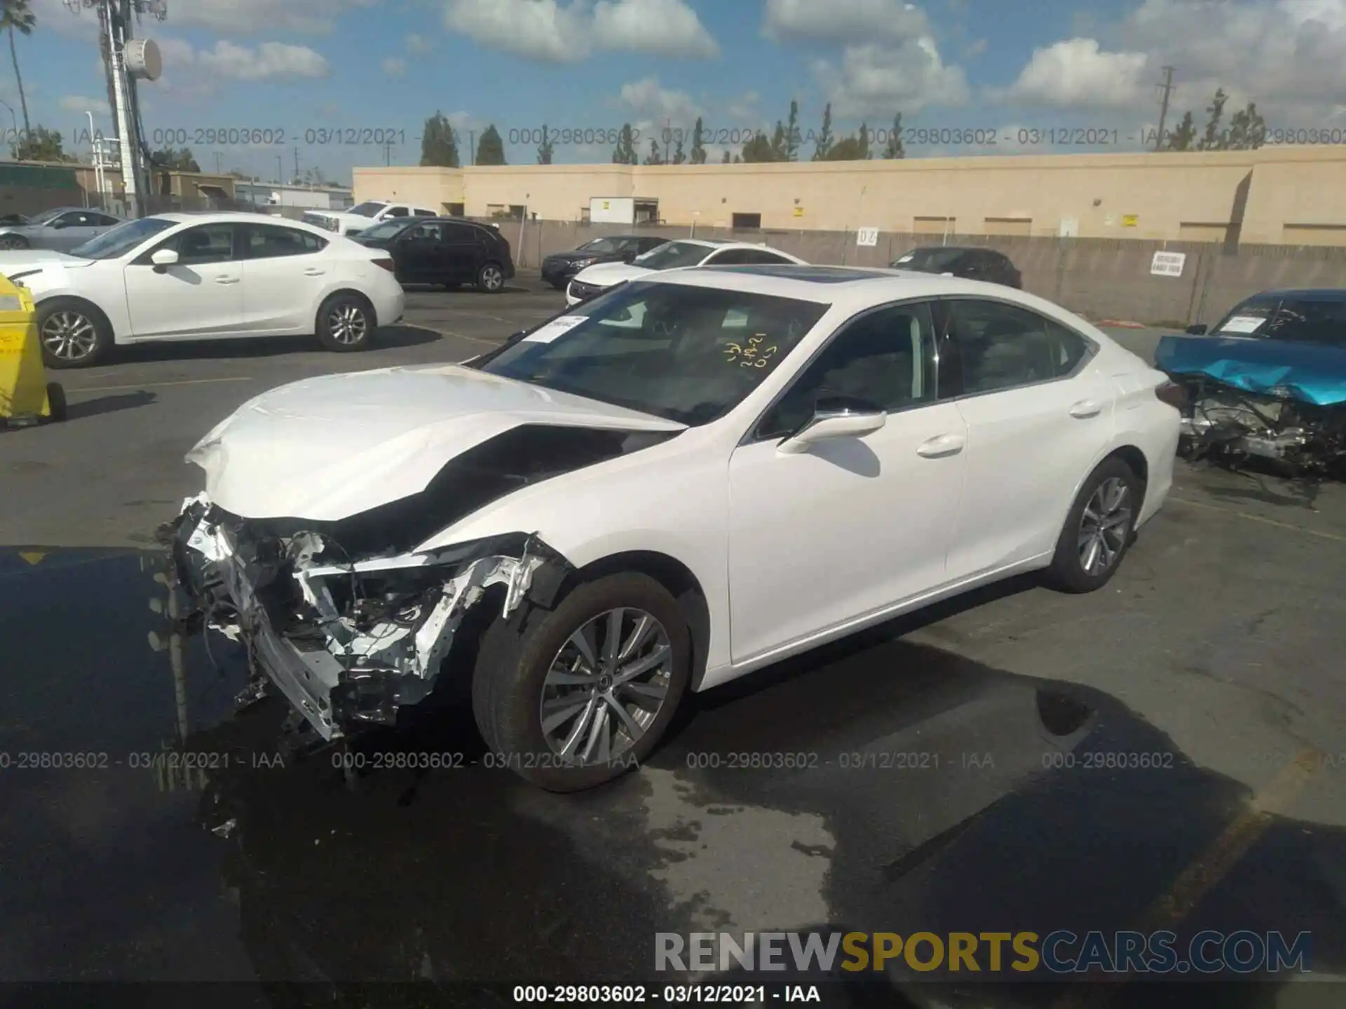
{"label": "front wheel with black tire on the crashed white sedan", "polygon": [[[622,667],[615,658],[607,661],[604,651],[615,611],[622,613],[618,636],[623,643],[637,636],[643,618],[653,622],[645,626],[647,640],[633,650],[638,658],[627,669],[666,648],[664,661],[627,683],[612,683]],[[532,607],[516,618],[501,618],[486,630],[472,671],[472,712],[493,763],[553,792],[592,788],[634,770],[658,745],[690,681],[690,634],[673,596],[647,574],[626,572],[581,583],[555,609]],[[572,670],[575,663],[584,669],[583,651],[575,644],[580,636],[598,675],[563,673],[568,683],[552,682],[557,666],[567,662]],[[584,678],[594,679],[595,687],[586,686]],[[606,696],[598,694],[602,687]],[[661,697],[654,692],[662,692]],[[545,728],[544,705],[555,709],[552,718],[560,718]],[[656,705],[653,712],[649,705]],[[616,713],[618,706],[627,718]],[[567,710],[569,717],[563,717]],[[639,722],[639,735],[627,728],[631,721]],[[580,759],[568,756],[564,737],[594,741],[591,755],[584,759],[579,745]],[[599,739],[608,740],[606,759]]]}

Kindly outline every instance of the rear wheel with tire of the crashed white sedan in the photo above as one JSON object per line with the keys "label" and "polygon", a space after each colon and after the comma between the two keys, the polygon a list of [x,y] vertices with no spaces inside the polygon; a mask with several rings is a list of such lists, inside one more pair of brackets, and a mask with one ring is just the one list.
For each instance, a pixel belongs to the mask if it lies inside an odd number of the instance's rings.
{"label": "rear wheel with tire of the crashed white sedan", "polygon": [[1121,459],[1105,459],[1079,488],[1057,539],[1050,584],[1062,592],[1094,592],[1116,574],[1131,546],[1144,482]]}

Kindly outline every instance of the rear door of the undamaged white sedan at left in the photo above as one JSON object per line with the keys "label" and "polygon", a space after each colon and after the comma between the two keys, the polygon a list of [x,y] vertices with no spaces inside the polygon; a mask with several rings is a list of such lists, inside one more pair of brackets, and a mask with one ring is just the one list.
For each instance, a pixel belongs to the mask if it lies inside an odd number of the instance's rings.
{"label": "rear door of the undamaged white sedan at left", "polygon": [[244,225],[244,328],[253,336],[310,334],[331,283],[327,239],[283,225]]}

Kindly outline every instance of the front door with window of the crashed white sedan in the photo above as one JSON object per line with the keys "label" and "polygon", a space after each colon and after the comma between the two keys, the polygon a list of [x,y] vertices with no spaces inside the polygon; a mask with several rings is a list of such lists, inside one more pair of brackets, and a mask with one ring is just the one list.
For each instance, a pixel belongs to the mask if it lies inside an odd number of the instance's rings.
{"label": "front door with window of the crashed white sedan", "polygon": [[[734,662],[837,628],[946,580],[965,426],[938,401],[927,303],[865,312],[833,336],[730,460]],[[778,451],[820,398],[865,401],[887,424],[798,455]]]}

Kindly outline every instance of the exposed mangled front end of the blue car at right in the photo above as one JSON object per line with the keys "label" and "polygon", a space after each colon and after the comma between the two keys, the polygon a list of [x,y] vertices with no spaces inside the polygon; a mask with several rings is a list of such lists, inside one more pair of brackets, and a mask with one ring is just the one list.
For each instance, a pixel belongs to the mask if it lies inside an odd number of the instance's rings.
{"label": "exposed mangled front end of the blue car at right", "polygon": [[1346,404],[1319,406],[1237,389],[1206,375],[1174,374],[1183,386],[1179,452],[1238,467],[1268,459],[1294,476],[1346,479]]}

